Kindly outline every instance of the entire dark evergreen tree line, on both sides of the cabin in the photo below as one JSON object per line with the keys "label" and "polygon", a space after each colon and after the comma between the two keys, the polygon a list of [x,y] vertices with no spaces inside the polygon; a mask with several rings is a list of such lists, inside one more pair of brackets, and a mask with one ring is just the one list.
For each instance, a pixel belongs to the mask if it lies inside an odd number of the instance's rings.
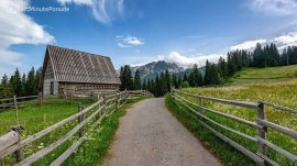
{"label": "entire dark evergreen tree line, on both sides of the cabin", "polygon": [[[265,46],[256,44],[252,52],[244,49],[228,52],[227,59],[220,57],[217,64],[207,60],[204,71],[199,70],[195,64],[191,73],[182,77],[166,70],[154,79],[141,80],[140,70],[132,74],[130,66],[125,65],[121,67],[120,71],[122,82],[120,90],[145,89],[160,97],[169,91],[170,85],[175,88],[222,85],[245,67],[275,67],[294,64],[297,64],[297,46],[288,46],[279,54],[273,43]],[[41,71],[42,68],[35,70],[32,67],[28,74],[21,75],[16,68],[10,78],[4,75],[0,82],[0,98],[10,98],[14,95],[18,97],[37,95]]]}

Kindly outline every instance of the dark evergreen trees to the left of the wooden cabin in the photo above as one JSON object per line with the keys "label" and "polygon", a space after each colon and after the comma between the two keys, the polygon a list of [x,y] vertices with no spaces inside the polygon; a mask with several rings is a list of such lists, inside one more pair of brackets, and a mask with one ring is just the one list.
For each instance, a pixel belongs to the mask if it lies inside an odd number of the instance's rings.
{"label": "dark evergreen trees to the left of the wooden cabin", "polygon": [[38,82],[42,68],[37,70],[32,67],[28,74],[21,75],[16,68],[13,75],[9,78],[6,74],[0,82],[0,99],[16,97],[33,96],[38,93]]}

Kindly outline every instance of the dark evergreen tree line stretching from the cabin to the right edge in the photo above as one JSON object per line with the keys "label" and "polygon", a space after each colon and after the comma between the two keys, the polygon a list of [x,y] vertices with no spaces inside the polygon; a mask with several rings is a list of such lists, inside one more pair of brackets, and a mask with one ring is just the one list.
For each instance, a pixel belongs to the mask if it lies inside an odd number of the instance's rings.
{"label": "dark evergreen tree line stretching from the cabin to the right edge", "polygon": [[191,73],[189,75],[184,74],[183,77],[165,70],[158,74],[155,79],[142,81],[140,71],[136,70],[133,78],[130,66],[125,65],[121,68],[120,78],[122,85],[120,90],[145,89],[155,97],[161,97],[170,90],[170,86],[187,88],[222,85],[237,71],[246,67],[276,67],[294,64],[297,64],[297,46],[288,46],[279,54],[276,45],[273,43],[264,47],[261,44],[256,44],[252,52],[245,49],[228,52],[227,59],[220,57],[217,64],[207,60],[204,73],[195,64]]}

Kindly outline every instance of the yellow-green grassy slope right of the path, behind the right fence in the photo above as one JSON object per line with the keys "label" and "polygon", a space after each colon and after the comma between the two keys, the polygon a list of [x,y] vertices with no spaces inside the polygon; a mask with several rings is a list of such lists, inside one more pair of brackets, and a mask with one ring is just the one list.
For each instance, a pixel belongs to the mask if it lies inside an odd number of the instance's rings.
{"label": "yellow-green grassy slope right of the path, behind the right fence", "polygon": [[[294,78],[296,74],[297,74],[296,65],[286,66],[286,67],[276,67],[276,68],[261,68],[261,69],[248,68],[245,70],[238,73],[238,78],[235,78],[234,82],[232,82],[231,85],[223,86],[223,87],[188,88],[184,90],[190,93],[201,93],[204,96],[232,99],[232,100],[243,100],[243,101],[253,101],[253,102],[256,102],[258,100],[266,100],[268,102],[297,109],[297,103],[296,103],[297,79]],[[193,98],[188,98],[188,99],[198,103],[197,99],[193,99]],[[204,101],[204,106],[211,108],[213,110],[233,114],[233,115],[237,115],[237,117],[250,120],[250,121],[256,120],[256,111],[251,110],[251,109],[241,109],[238,107],[229,107],[229,106],[207,102],[207,101]],[[266,112],[266,119],[268,119],[270,121],[297,131],[297,121],[296,121],[297,115],[296,114],[278,111],[270,107],[265,107],[265,112]],[[249,134],[251,136],[254,136],[257,134],[257,131],[252,128],[248,128],[234,121],[220,118],[211,113],[206,112],[205,114],[242,133]],[[229,137],[232,137],[233,140],[238,141],[240,144],[249,147],[249,150],[256,152],[257,147],[255,143],[240,139],[239,136],[230,132],[227,132],[222,129],[219,129],[215,125],[211,125],[211,126],[227,134]],[[267,139],[274,144],[294,154],[297,154],[297,140],[290,139],[286,135],[279,134],[272,130],[268,130]],[[215,150],[215,151],[217,152],[218,150]],[[229,153],[229,152],[226,152],[226,153]],[[294,165],[288,159],[284,158],[279,154],[276,154],[274,151],[268,150],[268,156],[277,161],[280,165]],[[240,161],[240,158],[235,161]],[[233,165],[232,163],[233,162],[229,164],[227,159],[227,165]],[[240,165],[240,163],[238,164]]]}

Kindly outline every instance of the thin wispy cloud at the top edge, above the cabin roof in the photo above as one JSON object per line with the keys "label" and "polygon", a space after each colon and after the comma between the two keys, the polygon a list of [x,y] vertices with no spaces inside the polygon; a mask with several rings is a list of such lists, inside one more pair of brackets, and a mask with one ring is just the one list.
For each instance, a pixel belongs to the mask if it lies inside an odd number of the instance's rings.
{"label": "thin wispy cloud at the top edge, above the cabin roof", "polygon": [[110,24],[117,16],[124,13],[124,0],[57,0],[61,4],[74,3],[87,5],[91,9],[94,18],[103,23]]}

